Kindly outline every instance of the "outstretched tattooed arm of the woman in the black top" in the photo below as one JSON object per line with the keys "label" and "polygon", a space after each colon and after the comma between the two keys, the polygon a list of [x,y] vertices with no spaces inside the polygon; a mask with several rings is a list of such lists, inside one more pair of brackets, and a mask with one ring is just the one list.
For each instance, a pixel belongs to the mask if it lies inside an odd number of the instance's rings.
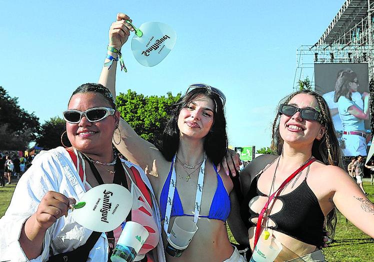
{"label": "outstretched tattooed arm of the woman in the black top", "polygon": [[342,169],[328,166],[337,209],[364,233],[374,237],[374,205]]}

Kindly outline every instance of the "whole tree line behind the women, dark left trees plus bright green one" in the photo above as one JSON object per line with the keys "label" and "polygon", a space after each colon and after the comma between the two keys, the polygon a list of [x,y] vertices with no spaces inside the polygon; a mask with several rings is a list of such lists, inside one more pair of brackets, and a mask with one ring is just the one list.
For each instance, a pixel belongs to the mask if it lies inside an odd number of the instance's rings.
{"label": "whole tree line behind the women, dark left trees plus bright green one", "polygon": [[[121,117],[136,133],[159,146],[172,105],[180,95],[167,92],[161,96],[145,96],[129,89],[127,93],[119,93],[115,103]],[[0,150],[25,150],[32,141],[45,149],[54,148],[61,145],[61,134],[65,130],[65,120],[60,116],[40,124],[34,112],[21,108],[18,98],[10,97],[0,86]]]}

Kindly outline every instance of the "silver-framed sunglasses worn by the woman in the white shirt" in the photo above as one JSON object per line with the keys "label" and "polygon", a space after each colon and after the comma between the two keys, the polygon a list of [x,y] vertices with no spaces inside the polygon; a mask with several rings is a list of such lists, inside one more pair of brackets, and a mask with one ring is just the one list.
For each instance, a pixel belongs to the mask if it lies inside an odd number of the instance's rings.
{"label": "silver-framed sunglasses worn by the woman in the white shirt", "polygon": [[63,111],[63,119],[69,123],[78,123],[82,119],[82,115],[90,122],[97,122],[104,119],[108,115],[113,115],[115,110],[110,107],[93,107],[81,112],[79,110],[65,110]]}

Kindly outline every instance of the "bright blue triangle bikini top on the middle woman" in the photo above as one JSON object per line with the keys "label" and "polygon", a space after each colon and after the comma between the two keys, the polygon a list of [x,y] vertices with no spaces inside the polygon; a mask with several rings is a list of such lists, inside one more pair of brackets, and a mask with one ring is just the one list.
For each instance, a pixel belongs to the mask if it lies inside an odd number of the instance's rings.
{"label": "bright blue triangle bikini top on the middle woman", "polygon": [[[166,200],[167,200],[167,195],[169,193],[169,184],[170,184],[170,179],[171,179],[172,167],[173,167],[173,160],[171,161],[170,171],[169,171],[169,174],[167,175],[165,183],[162,186],[161,194],[159,197],[161,220],[165,219]],[[209,214],[199,215],[198,217],[207,217],[209,219],[218,219],[218,220],[226,221],[228,215],[230,214],[231,202],[230,202],[228,193],[226,191],[226,188],[224,188],[222,178],[219,176],[217,172],[217,168],[215,167],[214,164],[213,164],[213,167],[214,167],[215,173],[217,174],[217,180],[218,180],[217,188],[215,189],[215,193],[210,204]],[[184,213],[183,206],[180,201],[179,194],[178,194],[178,190],[175,187],[174,199],[172,201],[170,216],[183,216],[183,215],[193,216],[193,214]]]}

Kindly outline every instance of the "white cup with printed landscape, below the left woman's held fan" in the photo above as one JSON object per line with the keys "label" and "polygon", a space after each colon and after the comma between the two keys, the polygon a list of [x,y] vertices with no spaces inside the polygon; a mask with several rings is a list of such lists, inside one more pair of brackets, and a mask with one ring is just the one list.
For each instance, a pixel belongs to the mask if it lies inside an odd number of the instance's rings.
{"label": "white cup with printed landscape, below the left woman's held fan", "polygon": [[126,222],[110,260],[112,262],[132,262],[148,235],[148,231],[141,224],[133,221]]}

